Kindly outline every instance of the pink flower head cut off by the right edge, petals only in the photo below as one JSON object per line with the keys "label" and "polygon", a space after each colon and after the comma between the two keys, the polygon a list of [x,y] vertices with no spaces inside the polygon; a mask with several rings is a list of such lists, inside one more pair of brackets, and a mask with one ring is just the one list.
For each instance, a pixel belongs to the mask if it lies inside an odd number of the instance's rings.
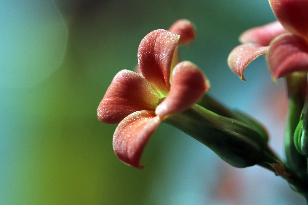
{"label": "pink flower head cut off by the right edge, petals only", "polygon": [[228,65],[242,80],[248,64],[263,54],[273,81],[308,70],[308,1],[269,1],[279,22],[245,31],[240,36],[243,44],[229,54]]}

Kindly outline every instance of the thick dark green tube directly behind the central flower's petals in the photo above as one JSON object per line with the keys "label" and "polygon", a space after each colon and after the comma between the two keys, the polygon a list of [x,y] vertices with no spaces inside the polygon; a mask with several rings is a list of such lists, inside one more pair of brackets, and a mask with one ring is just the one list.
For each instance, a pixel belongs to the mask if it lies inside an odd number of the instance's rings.
{"label": "thick dark green tube directly behind the central flower's petals", "polygon": [[254,129],[239,120],[223,117],[197,104],[163,120],[213,150],[234,167],[262,161],[267,144]]}

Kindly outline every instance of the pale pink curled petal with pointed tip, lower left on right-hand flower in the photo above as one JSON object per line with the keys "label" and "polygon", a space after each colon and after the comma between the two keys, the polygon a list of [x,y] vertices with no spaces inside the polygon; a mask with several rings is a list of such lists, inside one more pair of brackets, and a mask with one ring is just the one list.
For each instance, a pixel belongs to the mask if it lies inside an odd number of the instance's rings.
{"label": "pale pink curled petal with pointed tip, lower left on right-hand flower", "polygon": [[245,43],[235,47],[228,56],[228,65],[233,73],[241,80],[244,78],[244,70],[254,59],[267,52],[268,46],[257,43]]}

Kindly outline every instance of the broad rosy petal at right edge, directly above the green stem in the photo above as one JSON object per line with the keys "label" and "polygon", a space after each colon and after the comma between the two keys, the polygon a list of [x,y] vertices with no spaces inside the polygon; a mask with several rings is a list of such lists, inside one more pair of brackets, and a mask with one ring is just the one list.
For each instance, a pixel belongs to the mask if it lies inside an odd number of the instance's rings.
{"label": "broad rosy petal at right edge, directly above the green stem", "polygon": [[275,38],[266,57],[273,81],[292,72],[308,71],[308,43],[299,36],[282,34]]}

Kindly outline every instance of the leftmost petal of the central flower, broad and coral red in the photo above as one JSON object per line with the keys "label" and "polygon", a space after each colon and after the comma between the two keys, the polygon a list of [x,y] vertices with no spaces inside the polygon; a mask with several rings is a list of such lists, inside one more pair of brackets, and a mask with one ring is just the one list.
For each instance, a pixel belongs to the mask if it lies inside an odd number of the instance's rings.
{"label": "leftmost petal of the central flower, broad and coral red", "polygon": [[154,111],[159,98],[158,91],[141,75],[121,70],[100,102],[97,116],[103,123],[117,124],[133,112]]}

